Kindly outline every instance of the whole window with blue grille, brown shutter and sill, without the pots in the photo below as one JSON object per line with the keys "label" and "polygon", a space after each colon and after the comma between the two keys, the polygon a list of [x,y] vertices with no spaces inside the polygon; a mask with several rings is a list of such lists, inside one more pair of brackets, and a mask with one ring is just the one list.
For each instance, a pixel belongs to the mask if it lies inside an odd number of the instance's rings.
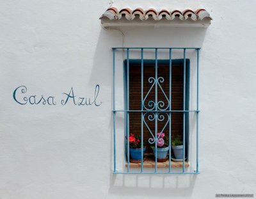
{"label": "whole window with blue grille, brown shutter and sill, without the pots", "polygon": [[[141,52],[141,59],[131,59],[130,48],[120,48],[126,50],[127,59],[124,60],[124,109],[115,109],[115,51],[113,49],[113,120],[114,120],[114,173],[163,173],[158,168],[165,165],[168,171],[164,173],[189,173],[185,168],[189,165],[189,113],[196,113],[198,120],[198,109],[189,110],[189,77],[190,60],[186,59],[186,48],[182,59],[172,59],[172,51],[175,48],[138,48]],[[136,48],[135,48],[136,49]],[[138,50],[136,49],[136,50]],[[144,50],[150,49],[155,52],[155,59],[149,60],[143,58]],[[158,59],[158,50],[164,49],[169,52],[169,59]],[[199,49],[193,49],[197,52],[196,66],[198,67]],[[198,72],[197,72],[198,83]],[[198,87],[197,87],[198,89]],[[197,92],[198,93],[198,92]],[[198,104],[198,103],[197,103]],[[197,106],[198,108],[198,106]],[[125,146],[124,154],[127,161],[127,168],[124,172],[116,171],[116,112],[124,112],[124,134]],[[159,134],[157,134],[159,133]],[[138,163],[131,163],[129,136],[134,134],[141,137],[140,145],[145,146],[145,154],[141,152],[141,160]],[[182,161],[174,163],[169,150],[166,164],[157,163],[157,155],[152,155],[152,147],[157,148],[161,143],[161,135],[168,138],[167,145],[171,146],[172,139],[182,138],[184,143]],[[170,147],[169,147],[170,148]],[[153,148],[154,150],[154,148]],[[141,150],[142,151],[142,150]],[[155,150],[157,153],[157,150]],[[147,161],[145,161],[147,158]],[[142,161],[144,159],[144,161]],[[150,164],[150,166],[148,166]],[[180,166],[182,171],[173,172],[172,166]],[[153,171],[144,171],[144,168],[154,166]],[[130,171],[130,168],[139,167],[136,171]],[[198,173],[198,122],[196,121],[196,171]]]}

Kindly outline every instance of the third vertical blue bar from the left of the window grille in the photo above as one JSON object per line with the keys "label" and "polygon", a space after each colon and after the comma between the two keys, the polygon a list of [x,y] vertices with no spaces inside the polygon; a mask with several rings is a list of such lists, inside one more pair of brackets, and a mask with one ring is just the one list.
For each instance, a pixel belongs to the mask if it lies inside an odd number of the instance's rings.
{"label": "third vertical blue bar from the left of the window grille", "polygon": [[141,173],[143,173],[143,49],[141,49]]}

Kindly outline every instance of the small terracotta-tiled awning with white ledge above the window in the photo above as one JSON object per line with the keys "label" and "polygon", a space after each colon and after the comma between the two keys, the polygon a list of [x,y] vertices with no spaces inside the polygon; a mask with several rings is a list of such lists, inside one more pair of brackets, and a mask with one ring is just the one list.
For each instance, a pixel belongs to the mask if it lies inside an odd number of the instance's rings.
{"label": "small terracotta-tiled awning with white ledge above the window", "polygon": [[162,9],[157,12],[154,8],[143,10],[136,8],[123,8],[118,10],[110,7],[101,17],[103,28],[118,26],[173,26],[173,27],[208,27],[211,24],[211,16],[205,9],[184,11]]}

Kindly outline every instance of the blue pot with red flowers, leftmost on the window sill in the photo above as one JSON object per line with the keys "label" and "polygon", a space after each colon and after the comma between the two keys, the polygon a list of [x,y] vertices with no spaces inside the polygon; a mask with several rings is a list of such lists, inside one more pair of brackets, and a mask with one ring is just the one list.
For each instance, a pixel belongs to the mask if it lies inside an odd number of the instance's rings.
{"label": "blue pot with red flowers, leftmost on the window sill", "polygon": [[[143,154],[145,153],[146,147],[143,146]],[[131,159],[141,160],[141,137],[130,134],[129,136],[129,152]]]}

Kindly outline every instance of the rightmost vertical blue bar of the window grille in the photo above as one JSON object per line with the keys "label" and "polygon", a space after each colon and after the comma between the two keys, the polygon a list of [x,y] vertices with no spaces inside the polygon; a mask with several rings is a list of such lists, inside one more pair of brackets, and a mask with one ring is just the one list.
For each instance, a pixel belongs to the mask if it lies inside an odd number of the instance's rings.
{"label": "rightmost vertical blue bar of the window grille", "polygon": [[196,64],[196,173],[198,173],[198,96],[199,96],[199,50],[197,52],[197,64]]}

